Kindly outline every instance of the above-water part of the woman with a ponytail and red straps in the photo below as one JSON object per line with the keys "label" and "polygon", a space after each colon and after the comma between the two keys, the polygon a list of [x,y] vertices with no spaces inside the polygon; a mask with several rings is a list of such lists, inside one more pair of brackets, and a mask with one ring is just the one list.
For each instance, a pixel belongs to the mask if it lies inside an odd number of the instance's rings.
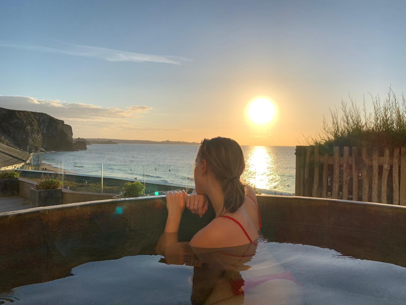
{"label": "above-water part of the woman with a ponytail and red straps", "polygon": [[240,180],[245,161],[240,145],[233,139],[204,139],[194,167],[195,190],[166,193],[168,218],[165,232],[179,229],[181,215],[187,207],[200,217],[210,200],[216,218],[190,241],[197,248],[224,248],[253,242],[258,237],[260,218],[255,192]]}

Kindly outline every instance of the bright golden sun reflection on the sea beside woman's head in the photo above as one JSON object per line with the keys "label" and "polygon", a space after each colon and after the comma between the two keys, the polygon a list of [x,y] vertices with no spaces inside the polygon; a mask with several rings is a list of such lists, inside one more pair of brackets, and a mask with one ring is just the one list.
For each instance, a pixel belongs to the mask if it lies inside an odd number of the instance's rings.
{"label": "bright golden sun reflection on the sea beside woman's head", "polygon": [[272,190],[278,185],[281,177],[275,171],[275,155],[272,147],[251,146],[248,148],[242,178],[260,189]]}

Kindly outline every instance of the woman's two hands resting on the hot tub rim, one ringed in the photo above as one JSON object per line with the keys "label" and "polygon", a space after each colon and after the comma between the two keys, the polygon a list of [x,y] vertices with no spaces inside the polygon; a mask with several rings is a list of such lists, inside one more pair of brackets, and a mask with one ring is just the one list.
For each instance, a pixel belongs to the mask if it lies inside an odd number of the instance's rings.
{"label": "woman's two hands resting on the hot tub rim, one ringed", "polygon": [[203,194],[186,194],[182,191],[172,191],[166,193],[166,208],[169,215],[181,215],[187,207],[193,214],[199,214],[200,217],[207,212],[209,203]]}

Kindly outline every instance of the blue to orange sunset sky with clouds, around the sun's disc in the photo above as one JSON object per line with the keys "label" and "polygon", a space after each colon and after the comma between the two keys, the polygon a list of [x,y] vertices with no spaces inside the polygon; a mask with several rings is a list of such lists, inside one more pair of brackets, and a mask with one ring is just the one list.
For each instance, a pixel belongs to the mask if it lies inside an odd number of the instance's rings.
{"label": "blue to orange sunset sky with clouds, around the sun's disc", "polygon": [[[300,145],[406,89],[405,1],[1,1],[0,107],[73,137]],[[266,96],[268,124],[247,117]],[[367,99],[371,109],[371,100]]]}

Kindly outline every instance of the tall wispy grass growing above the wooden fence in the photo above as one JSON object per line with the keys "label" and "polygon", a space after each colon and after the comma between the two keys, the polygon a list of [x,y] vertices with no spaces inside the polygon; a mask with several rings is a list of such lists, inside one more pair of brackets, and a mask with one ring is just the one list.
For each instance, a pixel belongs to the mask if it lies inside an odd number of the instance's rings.
{"label": "tall wispy grass growing above the wooden fence", "polygon": [[[368,92],[369,93],[369,92]],[[349,96],[350,104],[341,100],[339,108],[330,110],[331,125],[323,115],[323,125],[315,136],[305,139],[307,145],[325,146],[392,146],[406,145],[406,97],[400,97],[389,87],[384,100],[379,94],[373,96],[372,111],[367,111],[365,95],[363,108]]]}

